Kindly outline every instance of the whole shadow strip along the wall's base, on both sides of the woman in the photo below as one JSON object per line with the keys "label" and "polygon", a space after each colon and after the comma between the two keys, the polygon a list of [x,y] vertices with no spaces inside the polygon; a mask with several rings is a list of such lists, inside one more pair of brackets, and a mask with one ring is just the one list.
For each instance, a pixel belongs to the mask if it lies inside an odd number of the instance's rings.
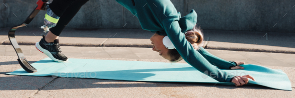
{"label": "whole shadow strip along the wall's base, on both sides of the woman", "polygon": [[[0,28],[7,35],[9,28]],[[267,34],[266,34],[267,33]],[[154,33],[143,29],[64,29],[61,37],[149,39]],[[295,33],[203,30],[204,40],[295,48]],[[39,28],[18,28],[16,36],[46,35]],[[266,40],[267,39],[267,40]]]}

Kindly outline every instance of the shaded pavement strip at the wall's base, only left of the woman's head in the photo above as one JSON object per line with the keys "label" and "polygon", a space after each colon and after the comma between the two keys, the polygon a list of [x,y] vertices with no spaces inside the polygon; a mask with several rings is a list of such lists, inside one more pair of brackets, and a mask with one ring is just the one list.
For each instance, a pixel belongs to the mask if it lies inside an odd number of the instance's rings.
{"label": "shaded pavement strip at the wall's base, only left of the woman's head", "polygon": [[[0,28],[0,35],[7,35],[10,28]],[[42,36],[46,35],[39,28],[18,28],[15,36]],[[154,33],[143,29],[68,29],[65,28],[60,37],[88,37],[88,38],[135,38],[149,39]]]}

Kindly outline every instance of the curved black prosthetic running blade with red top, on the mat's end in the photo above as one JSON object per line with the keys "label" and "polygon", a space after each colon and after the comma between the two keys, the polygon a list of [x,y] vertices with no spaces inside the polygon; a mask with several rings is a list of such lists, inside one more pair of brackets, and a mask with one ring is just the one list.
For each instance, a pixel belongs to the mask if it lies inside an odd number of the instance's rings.
{"label": "curved black prosthetic running blade with red top, on the mat's end", "polygon": [[8,38],[9,38],[9,41],[10,43],[12,44],[17,56],[18,56],[18,63],[20,64],[20,66],[28,73],[34,73],[34,72],[37,72],[37,70],[31,66],[29,64],[29,62],[25,59],[19,45],[17,44],[16,42],[16,39],[15,39],[15,36],[14,36],[14,33],[15,33],[15,30],[19,27],[23,27],[23,26],[26,26],[27,24],[29,24],[32,19],[37,15],[37,13],[40,11],[40,10],[45,10],[44,9],[44,6],[47,4],[47,1],[48,0],[38,0],[37,1],[37,6],[36,8],[29,14],[29,16],[24,20],[24,22],[22,22],[21,24],[18,24],[18,25],[15,25],[13,27],[10,28],[9,32],[8,32]]}

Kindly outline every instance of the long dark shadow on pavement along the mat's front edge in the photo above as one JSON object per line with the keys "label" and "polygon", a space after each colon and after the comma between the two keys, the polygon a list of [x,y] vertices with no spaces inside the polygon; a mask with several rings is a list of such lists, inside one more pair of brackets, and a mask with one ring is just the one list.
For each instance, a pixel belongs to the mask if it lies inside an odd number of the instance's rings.
{"label": "long dark shadow on pavement along the mat's front edge", "polygon": [[[8,72],[3,72],[8,73]],[[102,79],[56,78],[53,82],[39,82],[43,79],[53,80],[52,77],[10,76],[0,77],[0,90],[66,90],[89,88],[148,88],[148,87],[214,87],[219,89],[256,89],[275,90],[258,85],[242,87],[214,85],[209,83],[170,83],[170,82],[133,82]]]}

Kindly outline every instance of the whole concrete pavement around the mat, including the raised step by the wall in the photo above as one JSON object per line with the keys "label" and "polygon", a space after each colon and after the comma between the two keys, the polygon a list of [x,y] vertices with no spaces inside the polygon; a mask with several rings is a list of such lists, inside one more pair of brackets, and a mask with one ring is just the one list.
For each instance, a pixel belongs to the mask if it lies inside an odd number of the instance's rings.
{"label": "whole concrete pavement around the mat, including the raised step by the wall", "polygon": [[[227,61],[244,61],[246,64],[280,69],[286,73],[292,84],[292,91],[282,91],[262,86],[234,87],[201,83],[54,79],[5,75],[21,68],[12,46],[6,45],[10,44],[7,32],[7,28],[0,28],[2,43],[0,98],[290,98],[295,96],[295,74],[293,74],[295,54],[292,54],[295,51],[293,42],[295,37],[292,33],[275,35],[269,32],[266,35],[262,32],[204,31],[205,40],[209,39],[206,45],[209,49],[206,50],[211,54]],[[46,58],[33,46],[40,40],[42,34],[42,31],[36,28],[20,28],[16,31],[16,40],[21,44],[20,47],[29,63]],[[152,34],[139,29],[65,29],[59,39],[62,53],[69,58],[168,62],[148,48],[151,46],[149,37]],[[185,62],[182,60],[178,63]]]}

